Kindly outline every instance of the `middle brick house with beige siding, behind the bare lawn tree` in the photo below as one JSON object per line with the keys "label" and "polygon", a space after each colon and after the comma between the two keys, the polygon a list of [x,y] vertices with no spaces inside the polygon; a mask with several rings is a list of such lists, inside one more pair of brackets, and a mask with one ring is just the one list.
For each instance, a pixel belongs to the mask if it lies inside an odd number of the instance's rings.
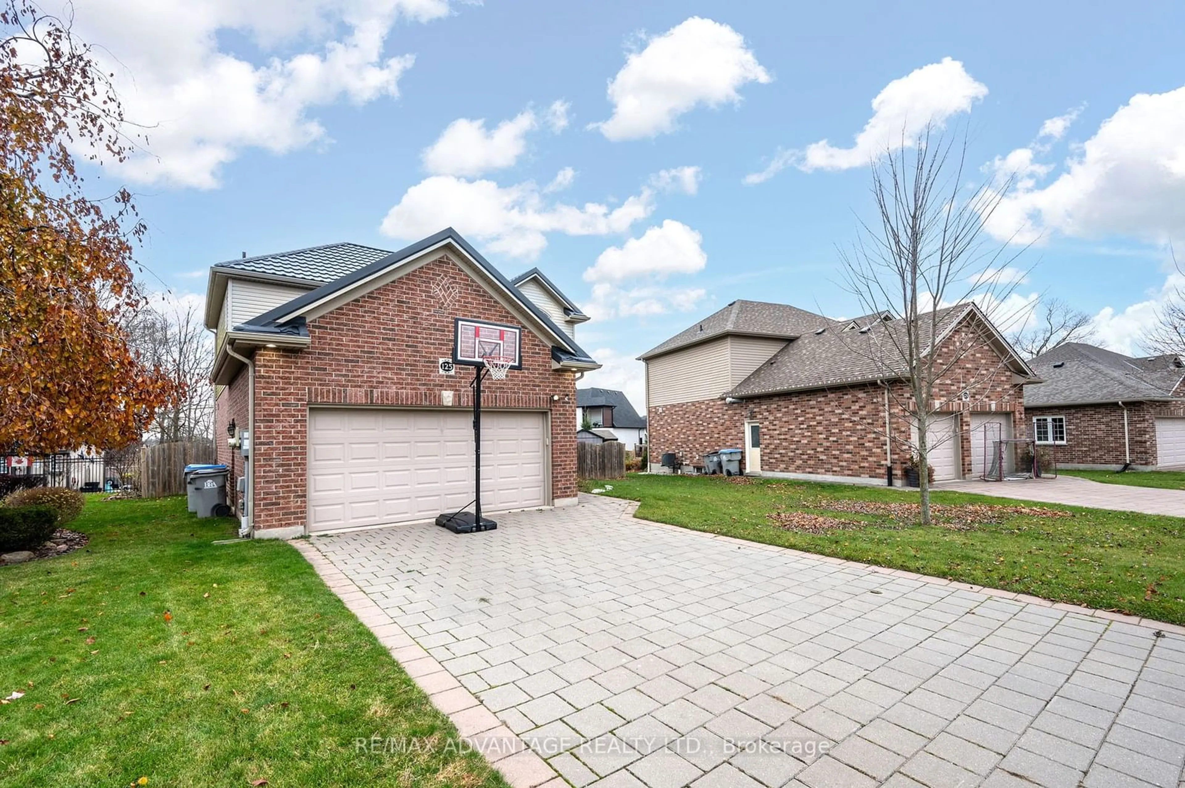
{"label": "middle brick house with beige siding, behind the bare lawn tree", "polygon": [[[1026,434],[1021,385],[1032,370],[974,304],[922,316],[944,369],[935,386],[929,459],[937,480],[979,476],[985,447]],[[903,478],[917,427],[904,406],[902,322],[834,321],[736,301],[640,359],[646,362],[652,470],[664,453],[696,464],[744,450],[747,473],[884,484]]]}

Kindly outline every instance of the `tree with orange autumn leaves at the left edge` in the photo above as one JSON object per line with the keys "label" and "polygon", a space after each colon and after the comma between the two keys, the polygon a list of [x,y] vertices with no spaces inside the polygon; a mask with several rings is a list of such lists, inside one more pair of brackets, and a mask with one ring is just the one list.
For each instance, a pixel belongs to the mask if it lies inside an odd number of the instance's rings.
{"label": "tree with orange autumn leaves at the left edge", "polygon": [[118,98],[62,20],[0,0],[0,448],[37,454],[139,440],[182,392],[128,345],[145,304],[120,189],[94,199],[76,168],[123,161]]}

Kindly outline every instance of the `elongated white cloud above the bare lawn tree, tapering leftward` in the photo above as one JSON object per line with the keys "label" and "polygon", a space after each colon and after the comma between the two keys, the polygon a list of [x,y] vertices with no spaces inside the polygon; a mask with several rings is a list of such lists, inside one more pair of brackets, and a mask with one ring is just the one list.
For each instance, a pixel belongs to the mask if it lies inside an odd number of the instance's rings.
{"label": "elongated white cloud above the bare lawn tree, tapering leftward", "polygon": [[941,128],[950,117],[969,112],[987,95],[959,60],[943,58],[893,79],[872,99],[872,117],[850,148],[837,148],[827,140],[801,150],[779,150],[769,164],[744,177],[745,183],[768,181],[782,169],[795,166],[803,172],[864,167],[886,151],[914,144],[928,125]]}

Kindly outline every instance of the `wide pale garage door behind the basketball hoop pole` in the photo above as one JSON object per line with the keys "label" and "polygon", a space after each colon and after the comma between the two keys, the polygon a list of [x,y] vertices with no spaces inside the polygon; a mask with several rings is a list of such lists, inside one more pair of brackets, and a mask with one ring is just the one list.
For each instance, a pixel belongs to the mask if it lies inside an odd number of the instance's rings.
{"label": "wide pale garage door behind the basketball hoop pole", "polygon": [[[483,511],[545,502],[544,414],[481,414]],[[308,530],[431,519],[473,499],[467,411],[314,408]]]}

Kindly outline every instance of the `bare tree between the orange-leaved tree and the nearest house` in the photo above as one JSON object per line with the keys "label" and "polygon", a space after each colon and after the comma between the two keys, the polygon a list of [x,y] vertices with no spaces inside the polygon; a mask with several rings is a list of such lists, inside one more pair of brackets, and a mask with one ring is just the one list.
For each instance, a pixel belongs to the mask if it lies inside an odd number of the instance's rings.
{"label": "bare tree between the orange-leaved tree and the nearest house", "polygon": [[148,438],[161,443],[210,438],[214,411],[210,383],[213,350],[198,309],[179,304],[146,309],[129,332],[140,357],[165,370],[180,392],[175,403],[156,412]]}

